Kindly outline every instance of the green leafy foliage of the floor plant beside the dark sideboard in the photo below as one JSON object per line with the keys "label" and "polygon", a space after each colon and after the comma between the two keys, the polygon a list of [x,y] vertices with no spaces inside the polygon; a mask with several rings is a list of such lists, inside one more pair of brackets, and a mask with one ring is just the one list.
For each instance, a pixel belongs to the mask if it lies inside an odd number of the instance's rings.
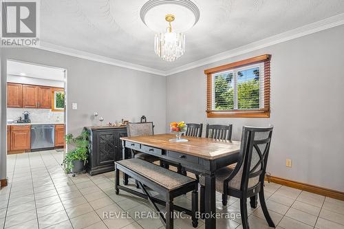
{"label": "green leafy foliage of the floor plant beside the dark sideboard", "polygon": [[63,160],[63,164],[65,164],[65,170],[67,173],[70,173],[73,166],[74,160],[82,160],[84,165],[87,163],[87,157],[89,153],[89,133],[87,130],[83,130],[80,135],[76,138],[69,133],[65,136],[66,143],[68,146],[72,146],[73,149],[69,150],[65,155],[65,160]]}

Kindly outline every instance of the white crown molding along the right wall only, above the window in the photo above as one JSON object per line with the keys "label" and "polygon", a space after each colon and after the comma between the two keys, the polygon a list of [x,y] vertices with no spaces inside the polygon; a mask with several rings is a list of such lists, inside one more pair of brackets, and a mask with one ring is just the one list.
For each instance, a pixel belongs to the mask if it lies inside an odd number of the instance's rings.
{"label": "white crown molding along the right wall only, above the window", "polygon": [[303,25],[299,28],[294,30],[289,30],[287,32],[282,32],[281,34],[277,34],[275,36],[270,36],[266,39],[262,39],[260,41],[255,41],[248,45],[243,45],[240,47],[236,47],[233,50],[228,50],[226,52],[222,52],[213,56],[209,56],[207,58],[202,58],[198,61],[194,61],[192,63],[182,65],[180,67],[175,67],[174,69],[168,70],[165,72],[166,76],[171,76],[173,74],[177,74],[179,72],[184,72],[189,69],[193,69],[195,67],[200,67],[203,65],[208,65],[210,63],[215,63],[217,61],[222,61],[227,58],[231,58],[233,56],[239,56],[241,54],[246,54],[248,52],[252,52],[255,50],[260,50],[261,48],[268,47],[271,45],[276,45],[278,43],[283,43],[286,41],[290,41],[292,39],[297,39],[301,36],[306,36],[308,34],[313,34],[315,32],[320,32],[322,30],[327,30],[338,25],[344,24],[344,13],[338,14],[334,17],[329,17],[327,19],[323,19],[321,21],[316,21],[314,23],[310,23],[308,25]]}

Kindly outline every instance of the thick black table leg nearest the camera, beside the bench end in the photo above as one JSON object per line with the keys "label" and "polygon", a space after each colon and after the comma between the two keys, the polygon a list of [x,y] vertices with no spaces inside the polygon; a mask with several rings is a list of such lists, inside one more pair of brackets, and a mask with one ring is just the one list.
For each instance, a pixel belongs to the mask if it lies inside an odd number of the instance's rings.
{"label": "thick black table leg nearest the camera, beside the bench end", "polygon": [[206,229],[216,228],[215,175],[204,175]]}

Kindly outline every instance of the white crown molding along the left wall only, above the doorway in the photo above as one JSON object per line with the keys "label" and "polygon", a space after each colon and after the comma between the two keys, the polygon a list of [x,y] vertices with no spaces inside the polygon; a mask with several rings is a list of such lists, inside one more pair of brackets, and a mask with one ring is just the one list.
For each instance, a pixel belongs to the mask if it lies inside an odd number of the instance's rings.
{"label": "white crown molding along the left wall only, above the doorway", "polygon": [[87,59],[89,61],[96,61],[99,63],[105,63],[108,65],[114,65],[114,66],[118,66],[118,67],[125,67],[128,69],[133,69],[133,70],[137,70],[140,72],[147,72],[147,73],[151,73],[151,74],[156,74],[159,76],[166,76],[165,72],[159,69],[154,69],[152,67],[146,67],[143,65],[136,65],[134,63],[129,63],[126,61],[120,61],[114,58],[109,58],[106,56],[100,56],[97,54],[92,54],[89,52],[83,52],[80,50],[74,50],[72,48],[69,47],[63,47],[60,45],[54,45],[52,43],[47,43],[47,42],[43,42],[41,41],[41,44],[39,47],[36,47],[40,50],[46,50],[46,51],[50,51],[50,52],[56,52],[59,54],[65,54],[67,56],[74,56],[74,57],[78,57],[78,58],[83,58],[83,59]]}

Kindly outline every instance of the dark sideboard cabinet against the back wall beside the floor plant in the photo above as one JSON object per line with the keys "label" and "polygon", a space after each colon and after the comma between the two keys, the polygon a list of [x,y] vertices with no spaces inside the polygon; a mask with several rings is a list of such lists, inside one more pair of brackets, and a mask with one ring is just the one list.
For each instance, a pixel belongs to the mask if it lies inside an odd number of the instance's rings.
{"label": "dark sideboard cabinet against the back wall beside the floor plant", "polygon": [[114,162],[122,160],[121,137],[127,136],[127,127],[85,127],[89,131],[89,175],[115,170]]}

